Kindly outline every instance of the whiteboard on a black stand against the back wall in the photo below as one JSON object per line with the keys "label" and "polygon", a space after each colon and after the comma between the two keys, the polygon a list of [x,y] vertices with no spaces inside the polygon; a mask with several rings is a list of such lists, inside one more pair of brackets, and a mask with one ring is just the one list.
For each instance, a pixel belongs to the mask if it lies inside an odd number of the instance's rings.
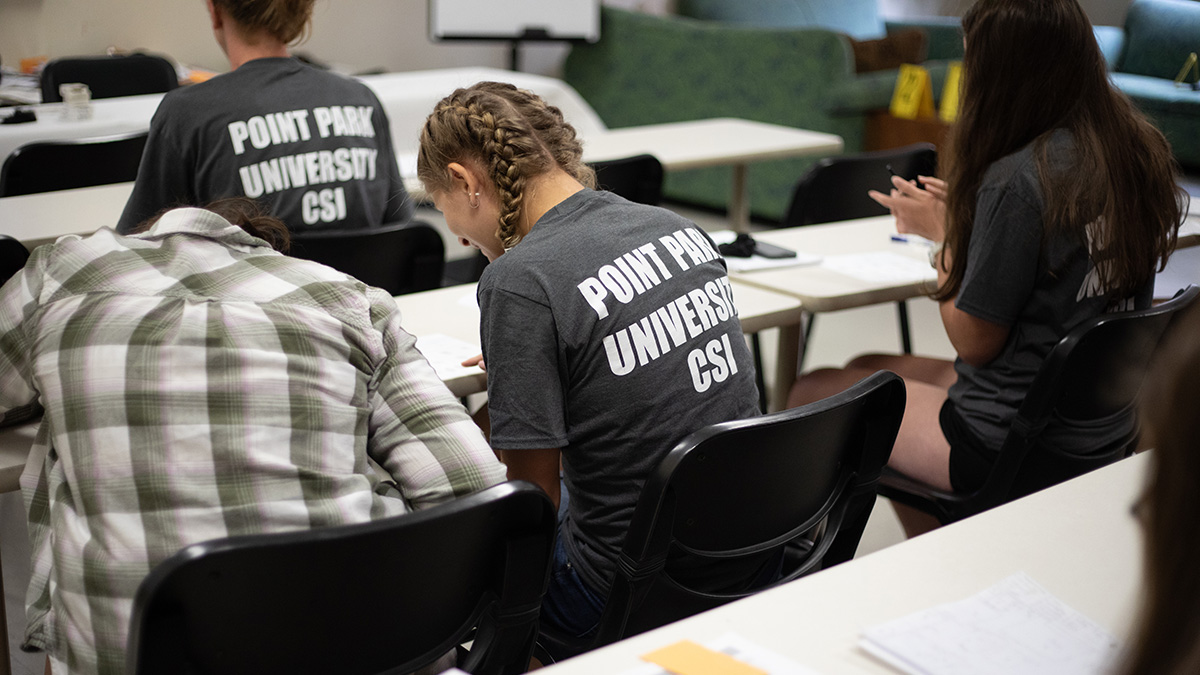
{"label": "whiteboard on a black stand against the back wall", "polygon": [[600,0],[430,0],[433,40],[600,38]]}

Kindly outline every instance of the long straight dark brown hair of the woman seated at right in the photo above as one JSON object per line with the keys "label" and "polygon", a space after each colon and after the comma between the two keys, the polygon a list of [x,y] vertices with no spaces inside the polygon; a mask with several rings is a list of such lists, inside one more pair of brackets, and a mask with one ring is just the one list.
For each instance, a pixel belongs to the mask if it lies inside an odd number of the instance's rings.
{"label": "long straight dark brown hair of the woman seated at right", "polygon": [[[1133,295],[1175,247],[1187,193],[1162,132],[1112,88],[1076,0],[979,0],[962,18],[959,120],[946,157],[946,245],[954,252],[934,295],[955,297],[967,265],[976,197],[992,162],[1034,144],[1046,234],[1086,241],[1111,299]],[[1046,137],[1074,141],[1068,167]],[[1098,227],[1088,225],[1096,222]]]}

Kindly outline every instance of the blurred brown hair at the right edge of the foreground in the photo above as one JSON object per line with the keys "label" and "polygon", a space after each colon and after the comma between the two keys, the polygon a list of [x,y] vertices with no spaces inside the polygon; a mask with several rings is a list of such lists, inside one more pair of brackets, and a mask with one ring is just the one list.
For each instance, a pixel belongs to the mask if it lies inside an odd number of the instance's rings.
{"label": "blurred brown hair at the right edge of the foreground", "polygon": [[1147,380],[1150,477],[1139,502],[1145,590],[1126,673],[1200,673],[1200,305],[1180,317]]}

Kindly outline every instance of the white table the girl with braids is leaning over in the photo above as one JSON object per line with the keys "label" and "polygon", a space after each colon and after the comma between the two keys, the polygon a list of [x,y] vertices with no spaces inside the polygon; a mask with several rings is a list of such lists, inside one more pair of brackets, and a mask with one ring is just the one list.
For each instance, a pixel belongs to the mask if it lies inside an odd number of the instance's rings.
{"label": "white table the girl with braids is leaning over", "polygon": [[[733,281],[733,301],[744,333],[779,328],[781,341],[798,339],[803,312],[797,299]],[[396,305],[401,313],[400,324],[410,334],[418,338],[446,335],[474,345],[478,353],[479,306],[475,304],[474,283],[397,295]],[[482,371],[460,374],[443,382],[456,396],[487,390],[487,375]]]}

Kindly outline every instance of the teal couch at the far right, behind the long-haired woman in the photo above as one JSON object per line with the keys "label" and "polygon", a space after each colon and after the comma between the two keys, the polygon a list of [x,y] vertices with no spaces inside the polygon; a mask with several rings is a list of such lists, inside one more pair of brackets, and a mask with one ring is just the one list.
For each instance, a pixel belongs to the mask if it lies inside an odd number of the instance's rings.
{"label": "teal couch at the far right, behind the long-haired woman", "polygon": [[1174,82],[1200,52],[1200,1],[1134,0],[1124,28],[1097,28],[1097,37],[1112,83],[1163,130],[1181,165],[1200,168],[1200,91]]}

